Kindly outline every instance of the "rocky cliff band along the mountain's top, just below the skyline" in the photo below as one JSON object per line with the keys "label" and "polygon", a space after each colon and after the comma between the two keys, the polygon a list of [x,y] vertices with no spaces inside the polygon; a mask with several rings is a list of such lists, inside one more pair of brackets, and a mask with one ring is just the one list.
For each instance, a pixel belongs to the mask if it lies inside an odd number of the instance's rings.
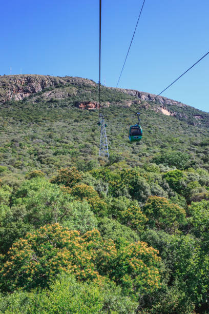
{"label": "rocky cliff band along the mountain's top, just below the skyline", "polygon": [[[0,76],[2,108],[7,101],[21,101],[28,97],[31,104],[39,103],[50,108],[75,106],[87,110],[99,109],[98,84],[87,78],[36,74]],[[209,126],[208,113],[147,92],[101,86],[101,100],[101,107],[135,106],[137,110],[154,110],[192,125]]]}

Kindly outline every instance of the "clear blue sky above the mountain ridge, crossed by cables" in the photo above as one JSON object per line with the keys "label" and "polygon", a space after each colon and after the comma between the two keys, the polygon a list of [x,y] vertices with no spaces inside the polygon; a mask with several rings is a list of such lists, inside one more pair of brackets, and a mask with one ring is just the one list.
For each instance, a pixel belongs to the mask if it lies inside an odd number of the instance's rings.
{"label": "clear blue sky above the mountain ridge, crossed by cables", "polygon": [[[102,0],[102,84],[117,84],[142,2]],[[98,11],[99,0],[3,1],[0,74],[98,82]],[[118,87],[161,92],[209,51],[208,16],[208,0],[146,0]],[[209,55],[162,95],[209,112],[208,69]]]}

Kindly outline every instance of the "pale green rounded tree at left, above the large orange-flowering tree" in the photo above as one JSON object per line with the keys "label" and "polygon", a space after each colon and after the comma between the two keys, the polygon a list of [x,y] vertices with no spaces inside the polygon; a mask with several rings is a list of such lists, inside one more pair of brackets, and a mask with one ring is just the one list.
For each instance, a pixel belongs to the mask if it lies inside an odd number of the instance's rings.
{"label": "pale green rounded tree at left, above the large orange-flowering tree", "polygon": [[25,181],[13,194],[13,206],[24,205],[27,211],[25,222],[34,227],[66,220],[72,201],[72,195],[43,178]]}

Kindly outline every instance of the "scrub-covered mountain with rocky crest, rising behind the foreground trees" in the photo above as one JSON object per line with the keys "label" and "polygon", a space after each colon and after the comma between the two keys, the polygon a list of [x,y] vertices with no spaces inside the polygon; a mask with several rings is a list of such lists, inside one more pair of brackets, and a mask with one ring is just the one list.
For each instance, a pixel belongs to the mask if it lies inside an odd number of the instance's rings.
{"label": "scrub-covered mountain with rocky crest, rising behind the foreground trees", "polygon": [[[166,97],[101,86],[112,167],[152,163],[166,151],[186,152],[191,165],[209,168],[209,113]],[[98,84],[87,78],[0,76],[0,162],[13,173],[62,166],[79,169],[98,159]],[[82,110],[81,110],[82,109]],[[87,109],[87,110],[83,110]],[[141,112],[143,139],[129,143],[128,130]],[[107,161],[106,161],[107,162]]]}

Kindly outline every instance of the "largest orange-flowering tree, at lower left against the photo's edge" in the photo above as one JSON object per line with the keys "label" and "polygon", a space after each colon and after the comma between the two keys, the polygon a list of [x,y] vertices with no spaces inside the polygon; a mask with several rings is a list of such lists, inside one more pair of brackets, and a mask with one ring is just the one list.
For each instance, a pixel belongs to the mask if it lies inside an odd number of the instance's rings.
{"label": "largest orange-flowering tree, at lower left against the photo's edge", "polygon": [[[95,234],[95,236],[94,236]],[[86,237],[91,237],[88,233]],[[91,239],[96,241],[97,233]],[[40,227],[19,239],[8,251],[0,270],[1,288],[12,291],[17,287],[45,287],[56,274],[75,274],[80,280],[95,279],[89,246],[78,231],[69,231],[59,224]]]}

